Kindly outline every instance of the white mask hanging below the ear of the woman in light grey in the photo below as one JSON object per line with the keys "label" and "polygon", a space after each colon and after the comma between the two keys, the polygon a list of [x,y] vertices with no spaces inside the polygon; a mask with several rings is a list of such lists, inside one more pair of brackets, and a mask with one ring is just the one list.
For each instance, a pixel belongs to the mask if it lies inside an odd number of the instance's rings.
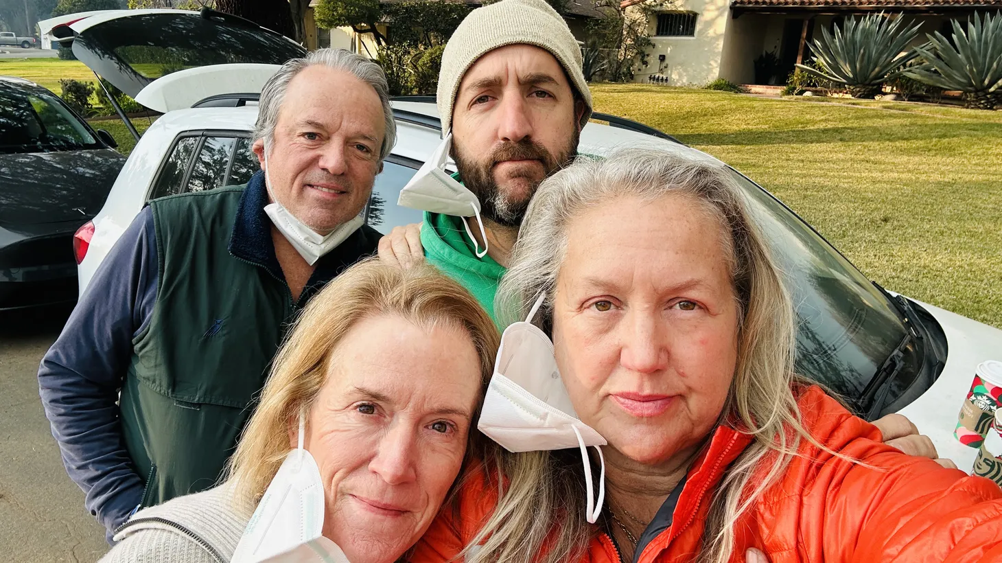
{"label": "white mask hanging below the ear of the woman in light grey", "polygon": [[324,482],[310,452],[290,452],[265,491],[236,544],[232,563],[349,563],[336,543],[324,537]]}

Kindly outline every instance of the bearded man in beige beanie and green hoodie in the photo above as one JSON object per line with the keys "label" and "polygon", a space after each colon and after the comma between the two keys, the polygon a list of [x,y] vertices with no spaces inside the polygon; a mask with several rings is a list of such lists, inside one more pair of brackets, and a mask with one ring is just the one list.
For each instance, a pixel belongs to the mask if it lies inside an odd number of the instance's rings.
{"label": "bearded man in beige beanie and green hoodie", "polygon": [[462,217],[426,211],[420,240],[413,225],[398,227],[380,242],[380,256],[406,265],[424,255],[493,316],[529,200],[574,158],[591,115],[581,66],[577,40],[543,0],[502,0],[470,12],[442,55],[438,109],[443,136],[453,134],[457,179],[480,201],[479,219],[469,218],[475,240]]}

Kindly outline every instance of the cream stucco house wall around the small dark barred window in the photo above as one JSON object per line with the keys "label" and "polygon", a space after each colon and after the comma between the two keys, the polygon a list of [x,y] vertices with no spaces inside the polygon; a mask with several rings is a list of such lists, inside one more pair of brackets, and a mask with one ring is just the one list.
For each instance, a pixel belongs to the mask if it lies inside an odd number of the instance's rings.
{"label": "cream stucco house wall around the small dark barred window", "polygon": [[[651,74],[661,74],[676,86],[704,84],[719,76],[720,55],[730,7],[726,0],[679,0],[672,10],[696,13],[694,37],[657,37],[657,18],[650,18],[650,39],[654,43],[648,64],[634,75],[634,81],[646,82]],[[664,55],[664,62],[658,61]]]}

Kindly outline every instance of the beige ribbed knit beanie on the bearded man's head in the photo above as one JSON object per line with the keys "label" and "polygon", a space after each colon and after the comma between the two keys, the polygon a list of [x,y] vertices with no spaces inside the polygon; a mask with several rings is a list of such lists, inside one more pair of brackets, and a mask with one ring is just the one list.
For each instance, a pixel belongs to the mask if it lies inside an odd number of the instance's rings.
{"label": "beige ribbed knit beanie on the bearded man's head", "polygon": [[452,126],[456,92],[466,71],[488,52],[517,44],[535,45],[556,57],[587,106],[581,116],[584,127],[591,116],[591,92],[584,80],[581,47],[567,22],[543,0],[501,0],[470,12],[446,43],[438,85],[443,136]]}

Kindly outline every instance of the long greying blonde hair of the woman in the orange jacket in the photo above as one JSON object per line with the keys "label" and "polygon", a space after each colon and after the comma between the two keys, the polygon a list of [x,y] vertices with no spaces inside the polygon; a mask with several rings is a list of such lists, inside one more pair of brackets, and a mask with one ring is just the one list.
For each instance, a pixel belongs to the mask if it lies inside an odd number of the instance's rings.
{"label": "long greying blonde hair of the woman in the orange jacket", "polygon": [[[495,303],[496,312],[517,319],[545,292],[537,319],[549,327],[568,226],[611,199],[682,196],[721,226],[739,321],[737,364],[718,422],[755,441],[730,465],[711,501],[699,560],[720,563],[733,549],[734,523],[782,474],[800,440],[816,443],[801,424],[792,391],[799,378],[791,299],[730,174],[715,160],[677,150],[625,149],[602,159],[578,158],[533,197]],[[576,451],[565,454],[499,452],[488,460],[501,498],[470,544],[482,546],[464,552],[467,563],[556,563],[584,552],[594,532],[584,518],[583,471]]]}

